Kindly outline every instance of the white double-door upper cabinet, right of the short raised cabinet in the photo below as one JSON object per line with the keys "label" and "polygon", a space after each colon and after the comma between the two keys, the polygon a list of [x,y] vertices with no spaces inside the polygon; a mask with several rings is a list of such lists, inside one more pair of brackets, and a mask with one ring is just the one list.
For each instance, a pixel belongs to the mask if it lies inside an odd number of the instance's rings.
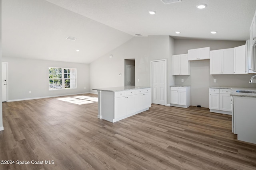
{"label": "white double-door upper cabinet, right of the short raised cabinet", "polygon": [[210,74],[234,74],[234,49],[210,51]]}

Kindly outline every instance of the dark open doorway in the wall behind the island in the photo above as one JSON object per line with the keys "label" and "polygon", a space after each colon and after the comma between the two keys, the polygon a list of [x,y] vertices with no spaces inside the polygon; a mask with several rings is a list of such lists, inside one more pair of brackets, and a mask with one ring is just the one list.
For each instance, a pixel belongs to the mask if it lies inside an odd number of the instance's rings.
{"label": "dark open doorway in the wall behind the island", "polygon": [[124,86],[135,86],[135,60],[124,59]]}

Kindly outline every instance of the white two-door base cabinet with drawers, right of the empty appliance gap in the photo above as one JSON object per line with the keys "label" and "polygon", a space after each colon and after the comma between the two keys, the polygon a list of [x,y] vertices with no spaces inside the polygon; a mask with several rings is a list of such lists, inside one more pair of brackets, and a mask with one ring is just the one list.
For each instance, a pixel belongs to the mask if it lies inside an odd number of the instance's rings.
{"label": "white two-door base cabinet with drawers, right of the empty appliance gap", "polygon": [[209,109],[211,112],[232,114],[231,89],[209,88]]}

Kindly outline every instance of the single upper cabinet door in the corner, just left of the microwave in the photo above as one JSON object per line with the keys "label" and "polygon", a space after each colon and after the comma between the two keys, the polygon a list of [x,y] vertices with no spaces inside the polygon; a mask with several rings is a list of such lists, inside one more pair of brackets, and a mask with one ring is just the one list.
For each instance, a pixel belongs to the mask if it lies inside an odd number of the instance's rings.
{"label": "single upper cabinet door in the corner, just left of the microwave", "polygon": [[245,45],[234,48],[234,74],[246,74]]}

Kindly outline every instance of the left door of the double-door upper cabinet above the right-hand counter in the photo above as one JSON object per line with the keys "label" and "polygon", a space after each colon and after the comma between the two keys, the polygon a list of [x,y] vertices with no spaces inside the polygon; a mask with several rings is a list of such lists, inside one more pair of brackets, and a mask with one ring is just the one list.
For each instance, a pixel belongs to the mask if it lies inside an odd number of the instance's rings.
{"label": "left door of the double-door upper cabinet above the right-hand counter", "polygon": [[221,50],[210,51],[210,74],[221,74]]}

